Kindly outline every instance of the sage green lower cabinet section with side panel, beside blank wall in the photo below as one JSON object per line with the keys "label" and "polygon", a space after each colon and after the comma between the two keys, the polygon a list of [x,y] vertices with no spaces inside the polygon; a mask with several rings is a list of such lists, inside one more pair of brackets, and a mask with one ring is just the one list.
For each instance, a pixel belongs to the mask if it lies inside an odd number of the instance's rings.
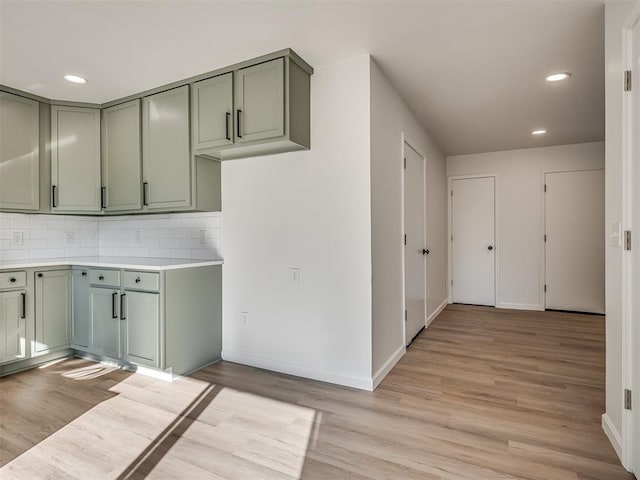
{"label": "sage green lower cabinet section with side panel, beside blank wall", "polygon": [[92,358],[175,375],[202,368],[222,351],[222,266],[74,267],[72,331],[72,347]]}

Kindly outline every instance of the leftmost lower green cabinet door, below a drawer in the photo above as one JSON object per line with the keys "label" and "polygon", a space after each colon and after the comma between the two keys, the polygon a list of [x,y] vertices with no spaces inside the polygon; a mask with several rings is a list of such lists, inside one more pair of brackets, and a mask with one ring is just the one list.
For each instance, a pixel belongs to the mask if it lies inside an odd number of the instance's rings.
{"label": "leftmost lower green cabinet door, below a drawer", "polygon": [[0,363],[26,356],[26,295],[24,290],[0,293]]}

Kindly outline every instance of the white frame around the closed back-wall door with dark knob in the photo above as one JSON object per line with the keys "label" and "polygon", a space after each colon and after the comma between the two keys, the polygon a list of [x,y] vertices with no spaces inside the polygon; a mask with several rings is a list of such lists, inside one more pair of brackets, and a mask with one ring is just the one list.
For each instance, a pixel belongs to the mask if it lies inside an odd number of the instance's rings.
{"label": "white frame around the closed back-wall door with dark knob", "polygon": [[473,175],[452,175],[447,177],[447,291],[449,304],[453,303],[453,242],[451,241],[452,226],[453,226],[453,204],[452,187],[454,180],[467,180],[473,178],[491,178],[493,177],[493,271],[494,271],[494,286],[493,286],[493,303],[494,308],[500,308],[500,271],[498,269],[500,258],[500,240],[498,238],[498,174],[497,173],[479,173]]}

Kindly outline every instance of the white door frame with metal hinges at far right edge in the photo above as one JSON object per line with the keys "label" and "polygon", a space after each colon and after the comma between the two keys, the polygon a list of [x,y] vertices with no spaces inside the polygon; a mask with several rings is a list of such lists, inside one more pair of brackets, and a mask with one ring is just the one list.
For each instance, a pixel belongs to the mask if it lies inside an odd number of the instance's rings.
{"label": "white door frame with metal hinges at far right edge", "polygon": [[[633,8],[628,17],[628,21],[622,28],[622,64],[624,70],[630,70],[633,65],[633,28],[640,22],[640,4]],[[637,91],[637,90],[636,90]],[[633,90],[632,90],[633,92]],[[625,230],[632,230],[633,235],[638,235],[640,225],[633,226],[633,95],[622,94],[622,225],[621,234]],[[640,159],[635,163],[640,167]],[[640,339],[640,312],[633,311],[633,267],[634,264],[640,267],[640,258],[634,258],[633,250],[624,249],[624,238],[622,238],[622,389],[630,389],[633,395],[640,395],[640,377],[634,359],[640,357],[639,346],[634,346],[634,340]],[[624,397],[624,393],[623,393]],[[624,401],[624,400],[623,400]],[[622,408],[622,432],[621,445],[622,465],[631,470],[634,466],[640,465],[638,458],[638,447],[636,442],[640,442],[640,433],[636,432],[634,438],[634,423],[636,416],[640,412],[626,410]],[[640,472],[635,472],[640,474]]]}

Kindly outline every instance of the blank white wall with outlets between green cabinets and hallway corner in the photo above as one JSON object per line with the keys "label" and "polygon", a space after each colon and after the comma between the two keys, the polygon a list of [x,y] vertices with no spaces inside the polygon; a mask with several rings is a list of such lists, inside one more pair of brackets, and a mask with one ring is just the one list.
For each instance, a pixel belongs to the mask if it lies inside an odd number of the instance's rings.
{"label": "blank white wall with outlets between green cabinets and hallway corner", "polygon": [[369,56],[311,95],[310,151],[223,163],[222,356],[371,388]]}

